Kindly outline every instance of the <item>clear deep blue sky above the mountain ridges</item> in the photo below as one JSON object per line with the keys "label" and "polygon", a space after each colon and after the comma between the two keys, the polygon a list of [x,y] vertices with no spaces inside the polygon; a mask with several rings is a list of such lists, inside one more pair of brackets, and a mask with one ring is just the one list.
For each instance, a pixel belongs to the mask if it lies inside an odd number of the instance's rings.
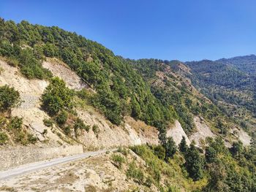
{"label": "clear deep blue sky above the mountain ridges", "polygon": [[124,58],[255,54],[255,0],[1,0],[0,17],[59,26]]}

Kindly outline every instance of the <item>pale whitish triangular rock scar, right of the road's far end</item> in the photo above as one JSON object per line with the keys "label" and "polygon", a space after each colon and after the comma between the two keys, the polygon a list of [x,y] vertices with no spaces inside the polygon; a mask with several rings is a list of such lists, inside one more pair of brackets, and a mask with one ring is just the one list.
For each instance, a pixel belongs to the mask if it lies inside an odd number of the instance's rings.
{"label": "pale whitish triangular rock scar, right of the road's far end", "polygon": [[167,130],[166,136],[173,137],[173,140],[174,142],[176,142],[176,145],[178,145],[181,142],[181,139],[184,136],[186,138],[187,145],[190,145],[190,140],[187,137],[187,134],[181,127],[181,123],[179,123],[178,120],[176,120],[173,126]]}

